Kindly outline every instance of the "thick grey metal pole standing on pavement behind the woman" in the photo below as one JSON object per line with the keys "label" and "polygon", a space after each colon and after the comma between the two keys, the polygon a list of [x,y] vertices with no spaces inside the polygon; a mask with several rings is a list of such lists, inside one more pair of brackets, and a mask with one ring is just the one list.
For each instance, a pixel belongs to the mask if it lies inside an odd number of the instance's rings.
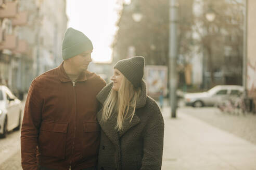
{"label": "thick grey metal pole standing on pavement behind the woman", "polygon": [[177,97],[176,97],[176,58],[177,58],[177,0],[170,0],[170,29],[169,29],[169,96],[171,105],[171,118],[176,118]]}

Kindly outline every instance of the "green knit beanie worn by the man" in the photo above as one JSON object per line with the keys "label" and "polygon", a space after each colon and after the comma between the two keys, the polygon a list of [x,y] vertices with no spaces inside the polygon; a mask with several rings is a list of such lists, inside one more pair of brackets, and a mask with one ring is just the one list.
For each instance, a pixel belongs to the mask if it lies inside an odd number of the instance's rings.
{"label": "green knit beanie worn by the man", "polygon": [[72,29],[66,31],[62,41],[62,58],[63,60],[72,58],[84,51],[93,50],[92,41],[89,40],[82,32]]}

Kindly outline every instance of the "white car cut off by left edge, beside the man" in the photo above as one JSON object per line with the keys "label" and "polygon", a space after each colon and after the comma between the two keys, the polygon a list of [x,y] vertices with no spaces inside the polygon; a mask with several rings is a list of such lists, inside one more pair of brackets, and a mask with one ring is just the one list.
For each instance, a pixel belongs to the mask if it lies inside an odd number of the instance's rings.
{"label": "white car cut off by left edge, beside the man", "polygon": [[21,101],[6,86],[0,86],[0,137],[20,129],[21,110]]}

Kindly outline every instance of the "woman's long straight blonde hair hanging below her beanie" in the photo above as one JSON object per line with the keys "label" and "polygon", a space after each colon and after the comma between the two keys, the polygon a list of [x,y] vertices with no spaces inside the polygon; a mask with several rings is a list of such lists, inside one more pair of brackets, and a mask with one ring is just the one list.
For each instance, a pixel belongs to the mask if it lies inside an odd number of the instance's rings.
{"label": "woman's long straight blonde hair hanging below her beanie", "polygon": [[[101,122],[106,122],[113,114],[117,113],[117,125],[115,129],[122,131],[125,119],[133,119],[135,114],[136,103],[141,93],[140,88],[134,88],[133,84],[123,77],[119,91],[111,89],[106,101],[103,104],[103,117]],[[129,114],[129,109],[133,112]]]}

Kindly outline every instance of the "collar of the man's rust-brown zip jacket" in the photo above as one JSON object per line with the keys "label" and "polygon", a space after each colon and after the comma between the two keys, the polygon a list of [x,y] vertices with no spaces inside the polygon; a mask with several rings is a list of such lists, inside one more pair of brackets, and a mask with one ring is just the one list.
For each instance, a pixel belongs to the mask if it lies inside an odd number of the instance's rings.
{"label": "collar of the man's rust-brown zip jacket", "polygon": [[[68,81],[71,81],[67,75],[67,73],[65,72],[65,69],[63,67],[63,63],[64,61],[62,61],[62,63],[58,66],[58,75],[59,75],[59,80],[61,82],[68,82]],[[87,70],[85,70],[84,72],[82,72],[80,74],[80,76],[78,77],[78,80],[77,81],[86,81],[87,80],[87,77],[86,77],[86,72]]]}

